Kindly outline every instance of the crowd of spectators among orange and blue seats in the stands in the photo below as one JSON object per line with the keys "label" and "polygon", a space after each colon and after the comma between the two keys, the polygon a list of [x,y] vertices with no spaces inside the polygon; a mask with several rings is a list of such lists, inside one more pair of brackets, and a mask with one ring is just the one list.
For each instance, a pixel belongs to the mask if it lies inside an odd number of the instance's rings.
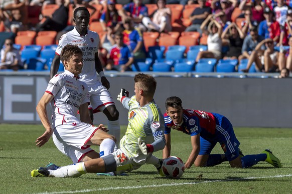
{"label": "crowd of spectators among orange and blue seats in the stands", "polygon": [[[30,44],[41,45],[41,50],[57,44],[74,28],[74,9],[85,6],[90,12],[88,28],[101,39],[104,70],[185,68],[281,72],[284,77],[292,71],[290,4],[289,0],[3,0],[0,69],[18,69],[16,61],[9,61],[16,58],[17,48],[22,52]],[[21,57],[17,57],[19,68],[30,62],[22,53]],[[44,68],[49,65],[50,58]]]}

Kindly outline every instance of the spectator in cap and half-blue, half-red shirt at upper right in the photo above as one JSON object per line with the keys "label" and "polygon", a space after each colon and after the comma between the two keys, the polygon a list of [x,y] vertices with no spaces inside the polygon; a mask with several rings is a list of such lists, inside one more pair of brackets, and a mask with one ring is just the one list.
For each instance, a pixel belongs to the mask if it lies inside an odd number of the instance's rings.
{"label": "spectator in cap and half-blue, half-red shirt at upper right", "polygon": [[276,20],[273,20],[273,12],[269,7],[264,8],[263,16],[265,20],[259,23],[258,34],[265,39],[272,38],[275,43],[278,43],[280,37],[280,24]]}

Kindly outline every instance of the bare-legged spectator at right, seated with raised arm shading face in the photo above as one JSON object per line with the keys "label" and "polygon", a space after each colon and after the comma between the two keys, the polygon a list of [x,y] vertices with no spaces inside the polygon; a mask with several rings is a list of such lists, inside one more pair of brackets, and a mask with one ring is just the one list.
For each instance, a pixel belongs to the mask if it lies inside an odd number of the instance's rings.
{"label": "bare-legged spectator at right, seated with raised arm shading face", "polygon": [[[262,46],[266,49],[262,50]],[[255,63],[255,68],[258,71],[275,72],[278,66],[278,51],[274,50],[274,42],[271,38],[267,38],[259,42],[255,49],[251,52],[248,58],[247,66],[242,69],[243,72],[248,72],[252,63]]]}

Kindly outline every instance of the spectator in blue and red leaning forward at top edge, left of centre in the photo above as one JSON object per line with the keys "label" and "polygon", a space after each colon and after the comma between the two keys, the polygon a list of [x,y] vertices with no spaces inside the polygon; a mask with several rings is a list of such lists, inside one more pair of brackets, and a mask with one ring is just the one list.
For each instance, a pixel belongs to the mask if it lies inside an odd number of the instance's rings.
{"label": "spectator in blue and red leaning forward at top edge, left of centre", "polygon": [[[129,13],[129,15],[128,15]],[[119,14],[122,20],[133,20],[134,27],[138,27],[141,31],[146,31],[146,27],[142,24],[144,16],[148,16],[148,8],[142,4],[142,0],[133,0],[133,2],[127,3],[119,10]]]}

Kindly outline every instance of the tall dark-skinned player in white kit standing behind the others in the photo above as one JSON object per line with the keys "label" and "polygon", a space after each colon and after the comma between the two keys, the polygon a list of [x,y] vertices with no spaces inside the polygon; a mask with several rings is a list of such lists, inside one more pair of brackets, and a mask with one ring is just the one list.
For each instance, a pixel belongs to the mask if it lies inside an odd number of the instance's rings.
{"label": "tall dark-skinned player in white kit standing behind the others", "polygon": [[[98,57],[99,35],[87,28],[90,14],[86,7],[77,7],[73,13],[73,21],[76,26],[73,30],[63,34],[59,40],[56,54],[52,62],[50,77],[58,71],[60,65],[60,53],[67,44],[77,45],[83,52],[83,69],[80,80],[88,85],[91,107],[89,114],[93,120],[93,113],[102,111],[108,119],[109,133],[116,137],[117,145],[120,139],[119,112],[108,91],[109,82],[104,76],[100,59]],[[101,83],[97,73],[100,75]],[[115,147],[115,150],[117,146]]]}

